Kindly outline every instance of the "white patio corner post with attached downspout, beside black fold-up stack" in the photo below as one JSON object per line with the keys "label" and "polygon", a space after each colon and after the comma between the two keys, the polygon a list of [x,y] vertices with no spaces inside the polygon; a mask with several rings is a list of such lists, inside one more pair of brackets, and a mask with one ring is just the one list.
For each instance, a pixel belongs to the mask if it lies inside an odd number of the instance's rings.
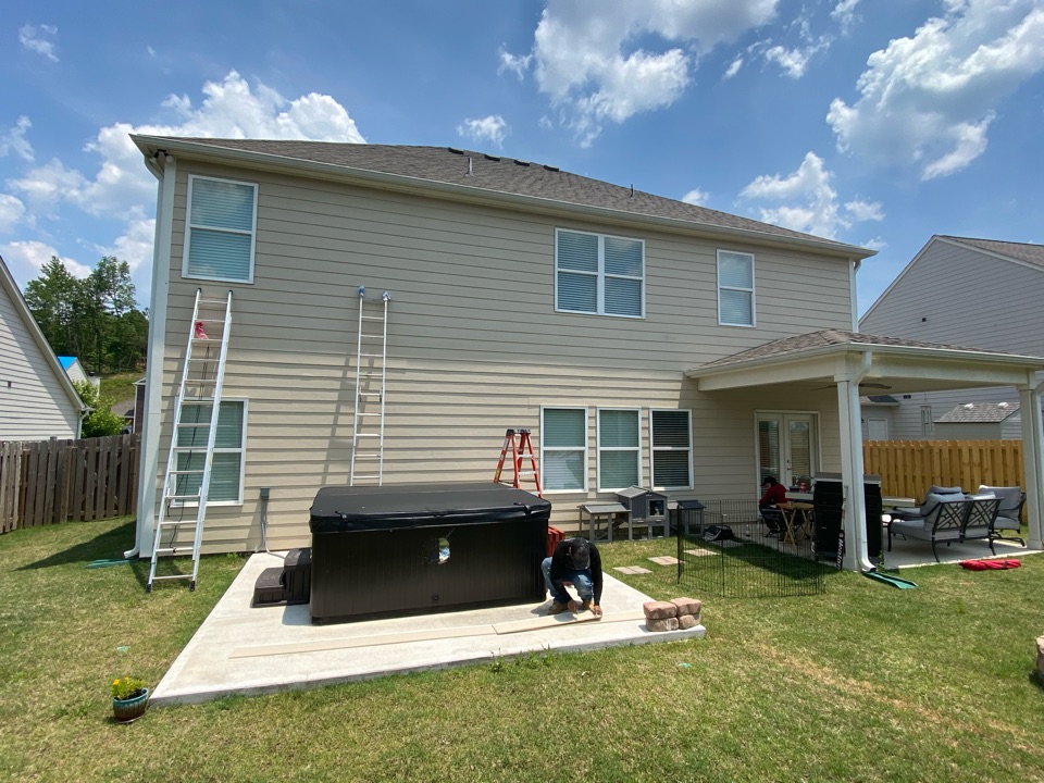
{"label": "white patio corner post with attached downspout, beside black fold-up stack", "polygon": [[872,364],[873,352],[863,351],[855,373],[837,380],[841,474],[846,493],[844,564],[850,571],[869,571],[874,568],[867,551],[867,501],[862,490],[862,426],[859,419],[859,383],[870,373]]}

